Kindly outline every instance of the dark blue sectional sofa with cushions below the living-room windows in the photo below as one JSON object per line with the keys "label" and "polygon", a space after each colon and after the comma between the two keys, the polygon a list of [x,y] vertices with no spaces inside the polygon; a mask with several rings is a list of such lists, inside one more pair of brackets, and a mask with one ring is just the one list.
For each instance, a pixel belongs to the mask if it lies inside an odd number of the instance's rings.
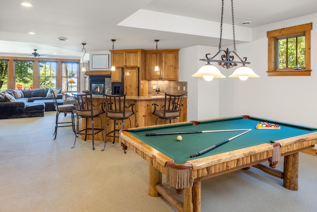
{"label": "dark blue sectional sofa with cushions below the living-room windows", "polygon": [[[53,89],[58,104],[63,104],[61,89]],[[44,111],[54,111],[50,88],[34,90],[8,89],[0,92],[0,119],[44,116]]]}

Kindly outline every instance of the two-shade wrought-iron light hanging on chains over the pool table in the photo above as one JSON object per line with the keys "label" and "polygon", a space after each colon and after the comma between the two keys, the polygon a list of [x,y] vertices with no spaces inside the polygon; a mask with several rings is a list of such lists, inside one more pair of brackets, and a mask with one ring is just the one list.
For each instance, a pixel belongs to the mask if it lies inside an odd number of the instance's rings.
{"label": "two-shade wrought-iron light hanging on chains over the pool table", "polygon": [[[247,61],[247,57],[241,57],[236,53],[236,41],[235,41],[235,32],[234,32],[234,16],[233,16],[233,0],[231,0],[231,13],[232,13],[232,31],[233,31],[233,51],[229,51],[227,49],[226,51],[221,50],[221,38],[222,38],[222,18],[223,18],[223,0],[222,0],[222,7],[221,7],[221,23],[220,23],[220,38],[219,38],[219,48],[218,52],[213,57],[208,57],[210,53],[206,54],[206,59],[200,59],[202,61],[207,62],[206,65],[201,67],[195,74],[193,74],[193,77],[204,77],[205,80],[210,81],[213,78],[225,78],[223,74],[219,71],[219,69],[211,64],[211,62],[217,62],[218,65],[221,65],[225,68],[232,68],[234,66],[237,66],[238,63],[242,64],[241,67],[237,68],[233,74],[231,74],[229,77],[239,77],[241,80],[246,80],[249,77],[259,77],[254,71],[247,67],[246,64],[250,64],[250,62]],[[221,60],[213,59],[215,56],[217,56],[219,53],[223,53],[220,57]],[[238,61],[234,61],[234,54],[236,57],[238,57]]]}

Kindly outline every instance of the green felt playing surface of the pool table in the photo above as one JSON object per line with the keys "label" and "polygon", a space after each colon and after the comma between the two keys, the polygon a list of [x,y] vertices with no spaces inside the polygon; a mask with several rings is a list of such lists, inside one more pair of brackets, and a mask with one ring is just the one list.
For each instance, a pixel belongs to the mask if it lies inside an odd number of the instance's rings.
{"label": "green felt playing surface of the pool table", "polygon": [[[279,130],[261,130],[256,129],[259,122],[268,122],[278,124]],[[218,144],[224,140],[239,135],[242,131],[230,132],[211,132],[211,133],[193,133],[181,134],[182,140],[177,141],[176,135],[158,135],[146,136],[146,133],[159,132],[189,132],[189,131],[209,131],[209,130],[229,130],[229,129],[252,129],[250,132],[239,136],[225,143],[216,149],[213,149],[201,156],[190,158],[194,153],[202,151],[212,145]],[[140,139],[149,146],[155,148],[167,157],[174,159],[175,163],[184,163],[192,159],[199,159],[229,151],[235,151],[247,147],[252,147],[264,143],[272,143],[281,139],[295,137],[303,134],[308,134],[317,131],[316,128],[277,122],[274,120],[267,120],[263,118],[256,118],[250,116],[244,118],[243,116],[220,118],[215,120],[199,121],[198,125],[192,122],[183,122],[172,125],[161,125],[145,128],[130,129],[134,137]]]}

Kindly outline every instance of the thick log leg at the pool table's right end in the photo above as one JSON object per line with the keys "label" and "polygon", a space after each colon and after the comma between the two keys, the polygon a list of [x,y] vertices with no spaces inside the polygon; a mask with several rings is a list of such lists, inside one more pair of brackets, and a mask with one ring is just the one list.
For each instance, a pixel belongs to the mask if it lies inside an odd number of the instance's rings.
{"label": "thick log leg at the pool table's right end", "polygon": [[283,186],[292,191],[298,190],[298,158],[298,152],[284,156]]}

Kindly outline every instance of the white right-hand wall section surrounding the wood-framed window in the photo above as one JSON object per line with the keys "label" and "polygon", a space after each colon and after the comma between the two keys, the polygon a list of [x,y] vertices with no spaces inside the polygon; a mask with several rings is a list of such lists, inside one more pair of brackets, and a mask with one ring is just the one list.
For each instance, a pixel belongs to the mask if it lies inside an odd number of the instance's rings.
{"label": "white right-hand wall section surrounding the wood-framed window", "polygon": [[[303,125],[317,126],[317,31],[312,30],[311,76],[267,76],[266,32],[317,21],[317,14],[281,21],[253,29],[253,42],[237,45],[260,78],[221,81],[220,116],[250,114]],[[228,87],[228,88],[227,88]],[[226,89],[227,88],[227,89]],[[231,92],[231,93],[230,93]],[[230,93],[230,94],[229,94]],[[229,99],[228,97],[229,94]],[[232,103],[230,104],[230,100]],[[226,107],[222,107],[226,105]]]}

